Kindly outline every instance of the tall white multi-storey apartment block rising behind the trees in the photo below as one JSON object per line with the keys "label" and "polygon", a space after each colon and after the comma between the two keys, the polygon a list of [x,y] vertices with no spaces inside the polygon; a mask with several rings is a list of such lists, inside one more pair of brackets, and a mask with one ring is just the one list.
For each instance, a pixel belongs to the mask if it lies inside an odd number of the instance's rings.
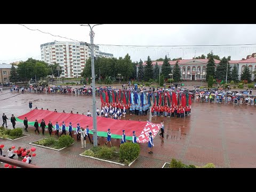
{"label": "tall white multi-storey apartment block rising behind the trees", "polygon": [[[90,46],[90,44],[89,44]],[[41,59],[53,65],[59,63],[62,67],[60,77],[80,77],[91,50],[82,42],[58,42],[41,45]],[[99,56],[99,46],[94,46],[95,57]]]}

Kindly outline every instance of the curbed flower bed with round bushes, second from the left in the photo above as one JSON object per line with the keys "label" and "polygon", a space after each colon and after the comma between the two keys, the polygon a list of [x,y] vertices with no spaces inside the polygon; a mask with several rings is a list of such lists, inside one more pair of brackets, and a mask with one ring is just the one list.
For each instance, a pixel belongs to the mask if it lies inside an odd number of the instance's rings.
{"label": "curbed flower bed with round bushes, second from the left", "polygon": [[74,139],[71,138],[69,135],[63,135],[62,137],[59,138],[59,140],[56,140],[53,137],[49,137],[49,138],[39,139],[34,142],[30,142],[29,144],[59,151],[59,150],[65,149],[70,145],[73,145]]}

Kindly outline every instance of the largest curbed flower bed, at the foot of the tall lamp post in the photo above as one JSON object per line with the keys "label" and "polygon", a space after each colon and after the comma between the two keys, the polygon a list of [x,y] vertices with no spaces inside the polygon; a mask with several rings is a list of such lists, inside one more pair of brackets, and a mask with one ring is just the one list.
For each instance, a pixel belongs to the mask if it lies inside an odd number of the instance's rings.
{"label": "largest curbed flower bed, at the foot of the tall lamp post", "polygon": [[[127,153],[127,150],[129,150],[130,153]],[[131,166],[138,158],[139,152],[139,145],[130,142],[122,144],[119,151],[116,151],[116,147],[92,147],[91,149],[84,151],[80,156],[90,157],[119,165]]]}

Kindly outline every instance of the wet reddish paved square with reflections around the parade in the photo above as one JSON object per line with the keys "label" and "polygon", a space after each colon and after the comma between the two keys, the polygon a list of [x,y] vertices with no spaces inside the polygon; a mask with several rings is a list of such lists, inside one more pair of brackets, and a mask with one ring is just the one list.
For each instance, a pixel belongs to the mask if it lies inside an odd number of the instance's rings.
{"label": "wet reddish paved square with reflections around the parade", "polygon": [[[255,92],[255,90],[254,90]],[[0,92],[0,100],[12,97],[17,93]],[[92,111],[92,97],[62,95],[62,94],[34,94],[25,93],[1,102],[0,113],[7,117],[14,114],[18,117],[28,113],[28,102],[33,102],[33,108],[43,107],[49,110],[65,110],[70,113],[78,111],[79,114],[87,110]],[[97,97],[97,106],[100,107],[100,98]],[[154,154],[147,153],[147,143],[141,143],[141,153],[131,167],[162,167],[172,158],[179,159],[182,163],[202,166],[214,163],[217,167],[256,167],[256,106],[234,106],[217,103],[193,102],[191,115],[185,119],[152,117],[153,123],[160,123],[164,119],[165,138],[154,138]],[[133,121],[146,121],[147,116],[130,116]],[[10,118],[7,120],[11,128]],[[61,121],[61,119],[60,119]],[[2,119],[1,119],[2,123]],[[17,122],[16,127],[23,127]],[[106,130],[109,127],[106,127]],[[120,129],[123,129],[121,127]],[[126,129],[129,129],[127,127]],[[37,135],[34,127],[29,127],[29,137],[16,141],[0,139],[0,143],[7,147],[15,145],[31,148],[29,142],[44,138]],[[100,145],[106,138],[99,139]],[[119,140],[113,139],[113,145],[118,146]],[[84,149],[80,148],[81,142],[61,151],[54,151],[37,147],[37,156],[32,159],[32,164],[40,167],[123,167],[121,165],[97,161],[81,157]],[[92,144],[87,143],[87,149]],[[6,154],[4,151],[4,154]],[[17,157],[15,157],[17,159]],[[0,164],[3,167],[3,164]]]}

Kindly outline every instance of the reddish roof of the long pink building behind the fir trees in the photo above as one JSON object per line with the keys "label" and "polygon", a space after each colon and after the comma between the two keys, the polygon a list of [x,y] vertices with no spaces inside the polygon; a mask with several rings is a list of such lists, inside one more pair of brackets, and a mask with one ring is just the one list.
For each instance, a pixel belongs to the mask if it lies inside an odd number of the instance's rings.
{"label": "reddish roof of the long pink building behind the fir trees", "polygon": [[[204,64],[204,65],[207,65],[207,62],[208,62],[209,59],[180,59],[178,61],[179,64],[181,65],[198,65],[198,64]],[[156,62],[157,62],[157,65],[160,65],[162,66],[163,65],[163,61],[152,61],[152,64],[153,66],[156,65]],[[220,60],[217,60],[217,59],[214,59],[214,62],[216,64],[218,64],[220,62]],[[169,61],[170,65],[175,65],[176,61]],[[143,62],[142,65],[147,65],[146,62]]]}

